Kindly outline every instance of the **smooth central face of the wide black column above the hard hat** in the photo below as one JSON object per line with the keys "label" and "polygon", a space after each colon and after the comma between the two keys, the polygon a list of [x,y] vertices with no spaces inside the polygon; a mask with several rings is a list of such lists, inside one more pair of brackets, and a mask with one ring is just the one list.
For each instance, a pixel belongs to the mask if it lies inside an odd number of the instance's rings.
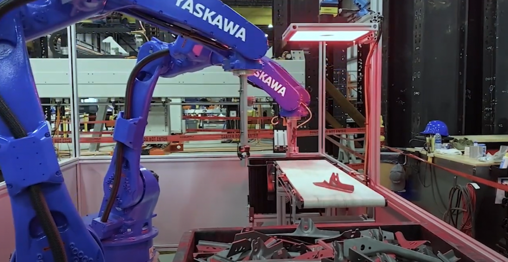
{"label": "smooth central face of the wide black column above the hard hat", "polygon": [[[414,65],[418,68],[414,68],[413,78],[419,81],[419,88],[415,86],[413,92],[414,135],[431,120],[446,123],[452,135],[464,134],[467,2],[415,0],[418,55]],[[442,43],[449,43],[449,47]]]}

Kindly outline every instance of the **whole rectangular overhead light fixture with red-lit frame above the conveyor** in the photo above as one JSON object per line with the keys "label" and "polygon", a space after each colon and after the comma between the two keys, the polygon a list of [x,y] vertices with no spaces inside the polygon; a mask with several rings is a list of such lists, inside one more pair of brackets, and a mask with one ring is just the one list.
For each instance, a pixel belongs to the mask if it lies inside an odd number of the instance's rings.
{"label": "whole rectangular overhead light fixture with red-lit frame above the conveyor", "polygon": [[377,23],[292,23],[282,34],[283,44],[290,41],[355,42],[372,40]]}

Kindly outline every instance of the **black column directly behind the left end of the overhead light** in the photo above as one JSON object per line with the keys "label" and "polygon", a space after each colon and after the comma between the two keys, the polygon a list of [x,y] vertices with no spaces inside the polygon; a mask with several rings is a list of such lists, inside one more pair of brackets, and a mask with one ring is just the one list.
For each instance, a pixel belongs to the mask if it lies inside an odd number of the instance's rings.
{"label": "black column directly behind the left end of the overhead light", "polygon": [[[318,68],[319,46],[316,42],[290,43],[282,47],[282,33],[290,23],[316,23],[319,22],[319,0],[274,0],[273,1],[273,53],[280,56],[284,50],[303,50],[305,54],[305,89],[310,94],[309,109],[312,119],[304,129],[317,129],[319,123],[319,108],[317,97],[319,95]],[[285,17],[284,17],[285,16]],[[317,152],[317,137],[302,137],[297,140],[300,152]]]}

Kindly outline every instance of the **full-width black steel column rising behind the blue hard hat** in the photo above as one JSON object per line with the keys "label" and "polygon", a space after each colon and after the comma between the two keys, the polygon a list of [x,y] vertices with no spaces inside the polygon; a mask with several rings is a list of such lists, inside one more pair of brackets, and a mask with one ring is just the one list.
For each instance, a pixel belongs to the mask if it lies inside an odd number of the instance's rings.
{"label": "full-width black steel column rising behind the blue hard hat", "polygon": [[[392,146],[407,146],[431,120],[446,123],[451,135],[478,132],[480,114],[465,118],[467,112],[479,109],[481,86],[481,56],[479,45],[474,42],[481,31],[481,2],[473,2],[389,3],[389,14],[397,14],[388,17],[386,96],[391,121],[398,119],[397,126],[387,126],[388,143]],[[390,134],[391,130],[395,134]]]}

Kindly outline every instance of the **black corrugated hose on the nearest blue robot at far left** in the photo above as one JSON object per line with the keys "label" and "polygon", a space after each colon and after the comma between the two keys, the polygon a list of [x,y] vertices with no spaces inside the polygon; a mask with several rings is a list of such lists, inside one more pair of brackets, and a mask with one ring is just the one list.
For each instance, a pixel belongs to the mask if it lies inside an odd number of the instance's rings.
{"label": "black corrugated hose on the nearest blue robot at far left", "polygon": [[[33,1],[34,0],[6,0],[0,2],[0,19],[2,19],[12,10]],[[28,136],[26,130],[23,128],[18,118],[7,105],[2,95],[0,95],[0,117],[5,121],[7,127],[15,139],[20,139]],[[28,187],[28,191],[30,195],[30,202],[35,210],[39,222],[41,223],[42,230],[46,235],[54,261],[67,262],[68,260],[65,246],[63,245],[60,232],[58,231],[55,220],[51,215],[51,211],[49,210],[41,188],[39,185],[32,185]]]}

